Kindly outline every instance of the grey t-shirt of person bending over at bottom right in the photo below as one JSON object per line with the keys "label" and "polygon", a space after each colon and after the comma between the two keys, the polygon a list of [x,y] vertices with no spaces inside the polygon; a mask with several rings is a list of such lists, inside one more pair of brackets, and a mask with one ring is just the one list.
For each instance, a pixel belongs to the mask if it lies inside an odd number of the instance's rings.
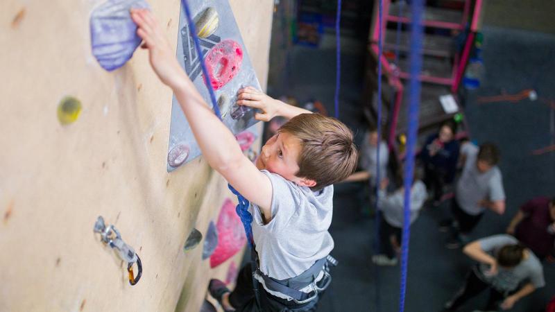
{"label": "grey t-shirt of person bending over at bottom right", "polygon": [[[478,242],[481,250],[495,257],[497,251],[504,245],[514,245],[518,243],[518,240],[510,235],[499,234],[480,239]],[[485,263],[480,263],[480,278],[502,293],[515,291],[524,281],[530,282],[536,288],[545,286],[542,264],[531,250],[527,249],[527,253],[527,259],[522,260],[518,266],[511,269],[498,267],[497,275],[493,276],[486,273],[489,270],[489,266]]]}

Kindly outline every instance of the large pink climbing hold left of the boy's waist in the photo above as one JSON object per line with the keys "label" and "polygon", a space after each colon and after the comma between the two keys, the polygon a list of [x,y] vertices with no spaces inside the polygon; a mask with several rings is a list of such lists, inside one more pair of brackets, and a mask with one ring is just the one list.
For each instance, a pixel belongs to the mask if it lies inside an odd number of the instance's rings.
{"label": "large pink climbing hold left of the boy's waist", "polygon": [[223,202],[216,229],[218,229],[219,239],[216,250],[210,256],[210,268],[215,268],[233,257],[247,243],[243,223],[235,213],[235,205],[229,198]]}

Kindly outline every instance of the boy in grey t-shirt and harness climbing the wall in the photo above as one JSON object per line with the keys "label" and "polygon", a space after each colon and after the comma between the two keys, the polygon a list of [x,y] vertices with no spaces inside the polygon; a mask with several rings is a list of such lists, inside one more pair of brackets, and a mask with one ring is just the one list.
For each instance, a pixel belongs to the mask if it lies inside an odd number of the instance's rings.
{"label": "boy in grey t-shirt and harness climbing the wall", "polygon": [[182,70],[151,12],[132,10],[131,16],[155,73],[173,90],[204,159],[250,201],[258,269],[250,264],[242,268],[233,292],[212,280],[210,293],[225,311],[313,311],[318,287],[330,278],[325,261],[334,247],[328,232],[332,184],[350,175],[357,163],[352,132],[336,119],[242,89],[238,104],[260,110],[257,119],[291,119],[253,164]]}

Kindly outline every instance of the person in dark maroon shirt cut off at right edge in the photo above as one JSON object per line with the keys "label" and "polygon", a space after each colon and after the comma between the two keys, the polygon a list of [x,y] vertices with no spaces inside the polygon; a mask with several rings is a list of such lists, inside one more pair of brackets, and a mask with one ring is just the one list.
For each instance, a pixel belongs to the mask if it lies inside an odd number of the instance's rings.
{"label": "person in dark maroon shirt cut off at right edge", "polygon": [[539,259],[555,254],[555,197],[538,197],[522,205],[507,227]]}

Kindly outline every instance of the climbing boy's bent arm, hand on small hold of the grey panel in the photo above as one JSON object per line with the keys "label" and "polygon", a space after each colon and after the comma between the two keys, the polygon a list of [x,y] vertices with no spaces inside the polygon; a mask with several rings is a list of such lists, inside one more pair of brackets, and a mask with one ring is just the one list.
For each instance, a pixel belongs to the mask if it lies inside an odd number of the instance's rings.
{"label": "climbing boy's bent arm, hand on small hold of the grey panel", "polygon": [[283,116],[291,119],[300,114],[311,114],[309,110],[283,103],[280,100],[271,98],[253,87],[246,87],[239,90],[237,104],[254,107],[262,111],[255,114],[255,119],[260,121],[270,121],[275,116]]}

